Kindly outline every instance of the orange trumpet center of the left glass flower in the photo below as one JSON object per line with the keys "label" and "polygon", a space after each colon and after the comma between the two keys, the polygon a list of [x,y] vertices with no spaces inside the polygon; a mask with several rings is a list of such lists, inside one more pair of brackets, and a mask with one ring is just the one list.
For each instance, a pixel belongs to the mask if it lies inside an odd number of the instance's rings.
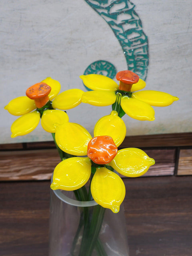
{"label": "orange trumpet center of the left glass flower", "polygon": [[42,108],[49,101],[51,87],[46,83],[37,83],[26,90],[26,96],[35,101],[37,108]]}

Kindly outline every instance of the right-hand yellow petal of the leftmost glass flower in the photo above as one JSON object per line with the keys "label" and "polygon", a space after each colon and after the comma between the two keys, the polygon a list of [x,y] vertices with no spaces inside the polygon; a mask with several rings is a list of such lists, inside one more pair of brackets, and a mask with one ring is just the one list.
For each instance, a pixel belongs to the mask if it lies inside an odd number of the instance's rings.
{"label": "right-hand yellow petal of the leftmost glass flower", "polygon": [[53,108],[67,110],[78,106],[84,92],[80,89],[70,89],[60,93],[52,102]]}

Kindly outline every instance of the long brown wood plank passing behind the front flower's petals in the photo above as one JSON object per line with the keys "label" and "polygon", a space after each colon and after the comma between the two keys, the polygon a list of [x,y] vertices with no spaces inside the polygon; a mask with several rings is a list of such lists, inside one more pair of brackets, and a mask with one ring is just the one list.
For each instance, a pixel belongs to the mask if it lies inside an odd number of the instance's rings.
{"label": "long brown wood plank passing behind the front flower's petals", "polygon": [[[145,176],[174,174],[175,149],[144,151],[156,160]],[[59,162],[56,149],[0,152],[0,180],[49,180]]]}

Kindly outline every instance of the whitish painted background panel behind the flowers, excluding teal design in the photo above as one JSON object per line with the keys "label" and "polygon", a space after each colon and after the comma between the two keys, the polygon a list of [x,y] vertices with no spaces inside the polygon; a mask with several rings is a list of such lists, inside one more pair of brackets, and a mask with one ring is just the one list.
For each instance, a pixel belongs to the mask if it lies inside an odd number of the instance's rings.
{"label": "whitish painted background panel behind the flowers, excluding teal design", "polygon": [[[123,120],[127,135],[192,131],[192,1],[132,0],[149,40],[149,90],[180,98],[169,107],[155,107],[156,120]],[[22,137],[10,138],[16,119],[4,106],[26,89],[51,76],[63,90],[85,90],[79,76],[96,60],[112,62],[125,70],[122,48],[108,24],[84,0],[0,1],[0,144],[52,140],[39,125]],[[88,104],[68,110],[91,134],[94,124],[110,107]]]}

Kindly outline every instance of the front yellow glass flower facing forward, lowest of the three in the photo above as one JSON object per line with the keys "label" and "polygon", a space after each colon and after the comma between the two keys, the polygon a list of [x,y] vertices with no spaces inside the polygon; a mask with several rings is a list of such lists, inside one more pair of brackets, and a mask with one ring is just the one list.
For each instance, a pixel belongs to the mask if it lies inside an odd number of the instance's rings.
{"label": "front yellow glass flower facing forward, lowest of the three", "polygon": [[58,146],[77,157],[65,159],[56,166],[51,188],[81,188],[89,180],[94,164],[96,172],[91,182],[92,196],[98,204],[113,212],[119,211],[125,186],[118,174],[106,167],[111,166],[124,176],[137,177],[155,163],[138,148],[118,151],[117,146],[126,135],[126,126],[116,111],[98,120],[94,127],[94,138],[84,127],[69,122],[56,126],[55,135]]}

